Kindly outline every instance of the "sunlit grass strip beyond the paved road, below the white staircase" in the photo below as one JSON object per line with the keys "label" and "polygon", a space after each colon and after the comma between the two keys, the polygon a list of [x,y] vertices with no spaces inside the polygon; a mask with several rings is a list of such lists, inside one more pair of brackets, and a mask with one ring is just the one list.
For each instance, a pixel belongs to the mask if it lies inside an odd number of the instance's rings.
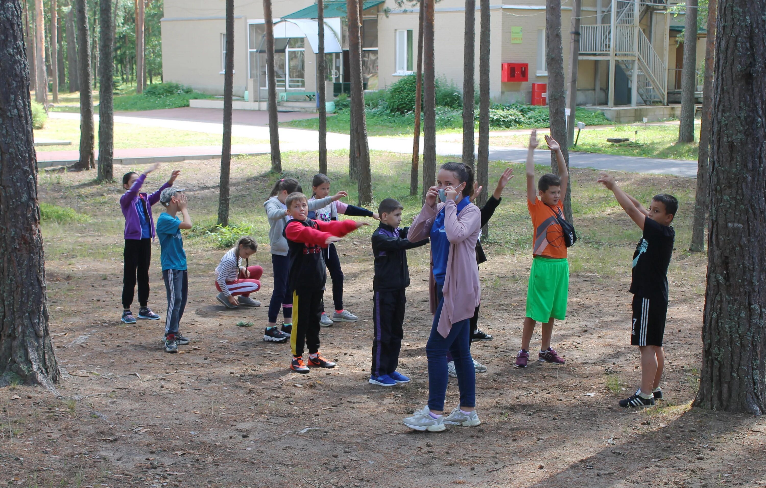
{"label": "sunlit grass strip beyond the paved road, below the white staircase", "polygon": [[[699,121],[695,124],[695,143],[678,143],[677,125],[625,124],[609,129],[588,129],[581,131],[577,150],[582,153],[615,154],[617,156],[658,157],[672,160],[696,160],[699,147]],[[575,136],[577,134],[575,133]],[[607,138],[627,137],[624,143],[610,143]],[[490,146],[526,147],[529,136],[509,135],[489,137]],[[541,149],[547,149],[545,140],[540,139]]]}

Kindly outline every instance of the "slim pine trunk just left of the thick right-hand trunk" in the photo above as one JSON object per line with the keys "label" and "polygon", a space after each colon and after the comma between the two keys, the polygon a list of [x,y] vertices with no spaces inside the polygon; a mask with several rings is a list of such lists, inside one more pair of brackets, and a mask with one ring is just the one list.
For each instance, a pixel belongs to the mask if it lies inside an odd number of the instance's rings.
{"label": "slim pine trunk just left of the thick right-hand trunk", "polygon": [[699,127],[697,155],[697,191],[694,196],[692,245],[689,251],[705,250],[705,216],[710,203],[708,195],[708,160],[710,157],[710,126],[712,124],[713,68],[715,66],[715,27],[718,0],[708,1],[708,33],[705,38],[705,81],[702,86],[702,124]]}

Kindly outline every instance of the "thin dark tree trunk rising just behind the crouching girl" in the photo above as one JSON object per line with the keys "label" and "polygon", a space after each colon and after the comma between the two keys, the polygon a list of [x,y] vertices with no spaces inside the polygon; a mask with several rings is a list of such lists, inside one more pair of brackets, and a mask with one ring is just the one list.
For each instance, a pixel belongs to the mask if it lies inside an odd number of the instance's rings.
{"label": "thin dark tree trunk rising just behind the crouching girl", "polygon": [[[141,2],[142,0],[139,0]],[[224,140],[221,183],[218,186],[218,225],[229,225],[229,170],[231,169],[231,110],[234,104],[234,0],[226,0],[226,58],[224,59]]]}

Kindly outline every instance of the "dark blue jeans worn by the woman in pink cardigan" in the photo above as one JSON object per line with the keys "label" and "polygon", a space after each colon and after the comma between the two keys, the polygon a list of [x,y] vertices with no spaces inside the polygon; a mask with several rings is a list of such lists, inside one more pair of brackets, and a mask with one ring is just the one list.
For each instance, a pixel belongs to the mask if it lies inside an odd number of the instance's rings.
{"label": "dark blue jeans worn by the woman in pink cardigan", "polygon": [[447,383],[450,376],[447,373],[447,351],[452,354],[457,372],[457,387],[460,389],[460,406],[476,406],[476,370],[473,369],[473,358],[470,350],[470,319],[466,318],[452,325],[447,338],[437,331],[441,309],[444,306],[444,295],[441,286],[437,284],[439,305],[434,314],[434,323],[426,343],[428,358],[428,408],[444,411],[444,396],[447,394]]}

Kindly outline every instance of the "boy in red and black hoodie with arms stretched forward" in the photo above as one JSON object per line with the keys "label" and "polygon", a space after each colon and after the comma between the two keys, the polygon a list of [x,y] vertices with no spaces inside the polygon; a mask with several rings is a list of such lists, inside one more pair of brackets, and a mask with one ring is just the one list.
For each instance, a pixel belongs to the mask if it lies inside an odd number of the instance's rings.
{"label": "boy in red and black hoodie with arms stretched forward", "polygon": [[292,217],[283,231],[290,260],[287,283],[289,289],[293,290],[293,332],[290,335],[293,361],[290,369],[302,374],[310,371],[303,362],[304,342],[309,348],[309,366],[335,368],[335,363],[319,355],[319,320],[327,280],[327,265],[322,257],[322,248],[368,224],[353,220],[322,222],[309,219],[308,199],[299,192],[290,193],[285,205],[287,216]]}

